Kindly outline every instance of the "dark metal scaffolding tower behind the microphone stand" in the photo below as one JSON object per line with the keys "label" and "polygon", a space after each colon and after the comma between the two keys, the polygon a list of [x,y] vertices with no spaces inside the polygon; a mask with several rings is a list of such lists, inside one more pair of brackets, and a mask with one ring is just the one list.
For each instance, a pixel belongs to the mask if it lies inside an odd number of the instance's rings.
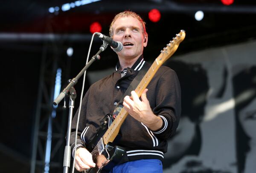
{"label": "dark metal scaffolding tower behind the microphone stand", "polygon": [[47,42],[42,51],[30,173],[53,173],[63,169],[67,113],[62,108],[53,108],[52,103],[57,69],[64,69],[62,81],[66,83],[70,58],[60,60],[60,49],[61,43]]}

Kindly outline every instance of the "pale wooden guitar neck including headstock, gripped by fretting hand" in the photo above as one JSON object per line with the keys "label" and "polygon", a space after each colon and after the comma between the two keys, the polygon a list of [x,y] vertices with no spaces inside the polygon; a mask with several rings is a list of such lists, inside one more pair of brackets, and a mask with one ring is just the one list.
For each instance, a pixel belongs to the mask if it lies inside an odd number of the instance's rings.
{"label": "pale wooden guitar neck including headstock, gripped by fretting hand", "polygon": [[[185,38],[185,31],[181,30],[179,34],[176,34],[176,37],[173,38],[172,41],[167,45],[166,48],[163,48],[161,51],[161,54],[154,60],[151,67],[148,69],[147,73],[143,77],[143,79],[140,81],[137,88],[134,90],[137,95],[140,97],[142,92],[145,90],[145,88],[148,86],[151,79],[156,74],[157,70],[160,68],[160,66],[169,59],[169,57],[172,56],[172,54],[175,53],[177,50],[180,42],[183,41]],[[125,111],[125,109],[122,109],[118,115],[116,116],[116,119],[112,122],[111,126],[108,128],[108,130],[105,132],[103,138],[104,144],[108,144],[108,142],[113,142],[113,140],[116,138],[122,123],[125,121],[125,118],[127,117],[128,112]]]}

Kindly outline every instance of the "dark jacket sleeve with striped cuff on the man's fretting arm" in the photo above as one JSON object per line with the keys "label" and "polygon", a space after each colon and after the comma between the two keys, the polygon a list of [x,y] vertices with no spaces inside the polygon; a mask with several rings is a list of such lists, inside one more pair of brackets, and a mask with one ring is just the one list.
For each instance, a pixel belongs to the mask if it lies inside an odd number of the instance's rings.
{"label": "dark jacket sleeve with striped cuff on the man's fretting arm", "polygon": [[158,138],[167,139],[172,136],[178,126],[181,113],[181,91],[177,74],[168,69],[157,82],[155,91],[156,106],[153,112],[161,117],[163,125],[152,132]]}

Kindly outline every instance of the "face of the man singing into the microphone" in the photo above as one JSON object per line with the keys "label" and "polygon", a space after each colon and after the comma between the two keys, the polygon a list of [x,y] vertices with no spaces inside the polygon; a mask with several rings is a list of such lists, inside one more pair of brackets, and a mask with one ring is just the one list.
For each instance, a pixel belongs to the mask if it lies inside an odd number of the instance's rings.
{"label": "face of the man singing into the microphone", "polygon": [[116,52],[121,59],[134,59],[143,53],[148,36],[143,36],[143,27],[135,17],[119,17],[113,24],[113,40],[123,44],[123,49]]}

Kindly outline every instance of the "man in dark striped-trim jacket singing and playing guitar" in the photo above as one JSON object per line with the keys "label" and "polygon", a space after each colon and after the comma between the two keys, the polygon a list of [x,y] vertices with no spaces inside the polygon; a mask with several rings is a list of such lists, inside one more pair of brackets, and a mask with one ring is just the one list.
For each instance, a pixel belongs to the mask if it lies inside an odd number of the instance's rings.
{"label": "man in dark striped-trim jacket singing and playing guitar", "polygon": [[[93,161],[86,149],[87,143],[95,136],[104,116],[113,113],[116,103],[140,69],[150,66],[143,59],[148,34],[139,15],[131,11],[117,14],[110,26],[110,36],[120,41],[123,49],[117,52],[119,62],[116,72],[94,83],[82,101],[75,158],[75,167],[79,171],[100,167],[105,162],[104,155]],[[175,72],[162,66],[147,88],[140,98],[135,91],[131,91],[131,96],[125,96],[121,103],[129,115],[120,128],[122,137],[117,145],[124,147],[127,154],[111,173],[162,172],[166,139],[175,133],[179,122],[180,84]],[[77,114],[72,122],[73,156]]]}

